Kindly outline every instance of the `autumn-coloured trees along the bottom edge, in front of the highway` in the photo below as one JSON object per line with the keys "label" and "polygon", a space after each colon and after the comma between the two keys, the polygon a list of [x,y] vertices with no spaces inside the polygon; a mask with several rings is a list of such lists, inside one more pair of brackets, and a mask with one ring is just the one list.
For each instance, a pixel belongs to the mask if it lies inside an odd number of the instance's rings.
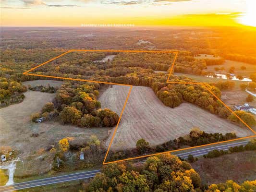
{"label": "autumn-coloured trees along the bottom edge, in front of the highway", "polygon": [[148,157],[140,167],[123,162],[106,165],[84,188],[85,192],[253,192],[256,181],[207,186],[188,162],[163,154]]}

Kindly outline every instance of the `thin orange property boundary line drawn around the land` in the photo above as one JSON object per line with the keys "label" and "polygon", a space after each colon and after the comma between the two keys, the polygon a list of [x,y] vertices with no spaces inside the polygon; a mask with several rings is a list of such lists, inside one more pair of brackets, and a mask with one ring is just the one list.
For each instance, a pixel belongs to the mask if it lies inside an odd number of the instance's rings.
{"label": "thin orange property boundary line drawn around the land", "polygon": [[[228,108],[232,114],[234,114],[241,122],[244,123],[244,125],[249,128],[255,135],[252,135],[252,136],[247,136],[247,137],[242,137],[242,138],[238,138],[238,139],[232,139],[232,140],[228,140],[228,141],[221,141],[221,142],[216,142],[216,143],[212,143],[212,144],[203,144],[203,145],[199,145],[199,146],[194,146],[194,147],[186,147],[186,148],[182,148],[182,149],[177,149],[177,150],[171,150],[171,151],[165,151],[165,152],[161,152],[161,153],[155,153],[155,154],[150,154],[150,155],[145,155],[145,156],[137,156],[137,157],[130,157],[130,158],[126,158],[126,159],[122,159],[122,160],[116,160],[116,161],[110,161],[110,162],[105,162],[106,159],[107,159],[107,156],[109,154],[109,151],[110,151],[110,147],[111,147],[111,144],[113,142],[113,139],[114,139],[114,136],[115,136],[115,133],[117,131],[117,128],[118,128],[118,125],[121,121],[121,118],[122,118],[122,114],[123,114],[123,111],[124,111],[124,108],[127,104],[127,101],[128,101],[128,98],[131,94],[131,91],[132,91],[132,87],[133,85],[130,85],[130,84],[116,84],[116,83],[110,83],[110,82],[100,82],[100,81],[93,81],[93,80],[85,80],[85,79],[74,79],[74,78],[67,78],[67,77],[57,77],[57,76],[49,76],[49,75],[40,75],[40,74],[34,74],[34,73],[28,73],[28,72],[31,72],[35,69],[37,69],[38,67],[41,67],[47,63],[49,63],[50,61],[53,61],[55,59],[58,59],[60,58],[61,56],[67,54],[67,53],[70,53],[70,52],[75,52],[75,51],[80,51],[80,52],[86,52],[86,51],[101,51],[101,52],[146,52],[146,53],[175,53],[175,57],[174,57],[174,60],[172,61],[172,64],[171,64],[171,69],[170,69],[170,72],[169,72],[169,75],[168,75],[168,79],[166,81],[166,83],[168,84],[200,84],[202,86],[204,86],[210,94],[212,94],[213,96],[215,96],[220,102],[221,104],[223,104],[226,108]],[[170,76],[171,76],[171,72],[173,71],[173,67],[174,67],[174,63],[177,59],[177,56],[178,56],[178,53],[179,51],[172,51],[172,50],[167,50],[167,51],[151,51],[151,50],[89,50],[89,49],[71,49],[71,50],[68,50],[64,53],[62,53],[61,55],[55,57],[55,58],[52,58],[26,72],[24,72],[23,74],[24,75],[33,75],[33,76],[40,76],[40,77],[50,77],[50,78],[57,78],[57,79],[66,79],[66,80],[74,80],[74,81],[84,81],[84,82],[94,82],[94,83],[102,83],[102,84],[115,84],[115,85],[123,85],[123,86],[130,86],[130,89],[129,89],[129,92],[128,92],[128,95],[126,97],[126,100],[125,100],[125,103],[123,105],[123,108],[122,108],[122,112],[120,114],[120,117],[119,117],[119,120],[118,120],[118,123],[116,125],[116,128],[114,130],[114,133],[111,137],[111,140],[110,140],[110,144],[109,144],[109,147],[108,147],[108,150],[107,150],[107,153],[105,155],[105,158],[104,158],[104,161],[103,161],[103,165],[106,165],[106,164],[110,164],[110,163],[117,163],[117,162],[122,162],[122,161],[127,161],[127,160],[132,160],[132,159],[138,159],[138,158],[143,158],[143,157],[148,157],[148,156],[155,156],[155,155],[159,155],[159,154],[165,154],[165,153],[171,153],[171,152],[176,152],[176,151],[183,151],[183,150],[187,150],[187,149],[194,149],[194,148],[198,148],[198,147],[202,147],[202,146],[208,146],[208,145],[213,145],[213,144],[221,144],[221,143],[226,143],[226,142],[231,142],[231,141],[238,141],[238,140],[242,140],[242,139],[247,139],[247,138],[253,138],[253,137],[256,137],[256,132],[249,126],[247,125],[240,117],[238,117],[233,111],[232,109],[230,109],[225,103],[223,103],[223,101],[221,101],[208,87],[207,87],[207,83],[196,83],[196,82],[169,82],[169,79],[170,79]]]}

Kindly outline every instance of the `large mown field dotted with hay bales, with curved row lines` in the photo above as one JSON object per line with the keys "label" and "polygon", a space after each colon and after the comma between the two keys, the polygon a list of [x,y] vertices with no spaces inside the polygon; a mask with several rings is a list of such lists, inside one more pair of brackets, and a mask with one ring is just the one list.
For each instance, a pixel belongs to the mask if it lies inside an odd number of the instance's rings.
{"label": "large mown field dotted with hay bales, with curved row lines", "polygon": [[[109,95],[99,99],[101,106],[116,112],[122,109],[120,98],[127,95],[128,89],[118,85],[109,88],[105,92]],[[146,139],[151,145],[161,144],[188,134],[193,127],[205,132],[235,132],[238,137],[253,134],[190,103],[183,103],[177,108],[166,107],[151,88],[133,86],[111,149],[133,148],[140,138]]]}

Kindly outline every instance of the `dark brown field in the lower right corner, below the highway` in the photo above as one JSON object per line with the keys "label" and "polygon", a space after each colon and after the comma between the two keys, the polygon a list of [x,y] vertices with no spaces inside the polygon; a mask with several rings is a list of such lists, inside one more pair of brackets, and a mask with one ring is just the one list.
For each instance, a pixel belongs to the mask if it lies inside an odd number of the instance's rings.
{"label": "dark brown field in the lower right corner, below the highway", "polygon": [[256,180],[256,153],[245,151],[216,158],[199,159],[192,167],[200,174],[204,183],[220,183],[234,180]]}

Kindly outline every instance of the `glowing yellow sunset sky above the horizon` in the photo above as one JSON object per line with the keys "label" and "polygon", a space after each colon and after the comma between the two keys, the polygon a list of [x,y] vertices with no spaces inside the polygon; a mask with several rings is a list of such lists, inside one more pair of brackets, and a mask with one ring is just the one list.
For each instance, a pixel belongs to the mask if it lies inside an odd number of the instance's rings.
{"label": "glowing yellow sunset sky above the horizon", "polygon": [[1,26],[256,26],[256,0],[0,0]]}

